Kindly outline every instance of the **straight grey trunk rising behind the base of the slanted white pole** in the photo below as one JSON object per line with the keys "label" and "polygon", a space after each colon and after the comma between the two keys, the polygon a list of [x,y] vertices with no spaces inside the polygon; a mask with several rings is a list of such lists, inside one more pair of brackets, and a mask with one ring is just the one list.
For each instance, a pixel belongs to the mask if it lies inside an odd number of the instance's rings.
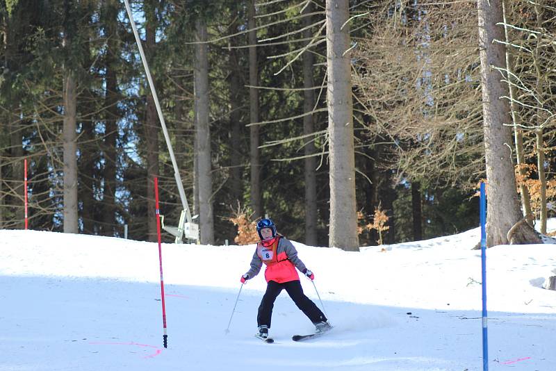
{"label": "straight grey trunk rising behind the base of the slanted white pole", "polygon": [[[204,19],[195,22],[195,41],[208,40]],[[208,124],[208,46],[195,44],[195,108],[197,108],[197,166],[199,179],[199,232],[203,245],[214,243],[211,131]]]}

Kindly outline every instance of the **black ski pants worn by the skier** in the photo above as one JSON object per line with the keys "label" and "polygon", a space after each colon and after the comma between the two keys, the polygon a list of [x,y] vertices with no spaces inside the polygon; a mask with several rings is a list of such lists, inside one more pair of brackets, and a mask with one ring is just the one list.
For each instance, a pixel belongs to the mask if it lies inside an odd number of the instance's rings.
{"label": "black ski pants worn by the skier", "polygon": [[261,300],[261,305],[259,306],[259,314],[256,316],[256,322],[259,326],[265,324],[270,329],[270,321],[272,320],[272,308],[274,308],[274,302],[281,290],[285,289],[290,295],[291,299],[300,308],[303,313],[311,320],[313,323],[326,321],[326,317],[322,311],[318,308],[303,293],[303,288],[301,287],[300,280],[289,281],[284,283],[277,283],[276,281],[268,281],[266,286],[265,295]]}

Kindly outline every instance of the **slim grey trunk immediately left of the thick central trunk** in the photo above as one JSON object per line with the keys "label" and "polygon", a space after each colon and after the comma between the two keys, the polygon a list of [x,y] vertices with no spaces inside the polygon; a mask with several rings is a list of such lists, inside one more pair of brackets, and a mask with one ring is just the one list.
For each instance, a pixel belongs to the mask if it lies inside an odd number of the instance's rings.
{"label": "slim grey trunk immediately left of the thick central trunk", "polygon": [[[303,13],[311,13],[313,7],[311,3],[305,7]],[[306,16],[303,19],[303,26],[309,27],[312,23],[312,17]],[[311,38],[311,30],[307,28],[303,32],[303,38]],[[311,40],[307,41],[309,44]],[[309,113],[315,106],[315,85],[313,79],[313,63],[314,56],[310,49],[303,53],[303,112]],[[315,132],[313,115],[305,115],[303,117],[303,134],[311,135]],[[304,139],[304,165],[305,165],[305,244],[316,246],[317,242],[317,182],[316,182],[316,158],[314,136],[306,136]]]}

